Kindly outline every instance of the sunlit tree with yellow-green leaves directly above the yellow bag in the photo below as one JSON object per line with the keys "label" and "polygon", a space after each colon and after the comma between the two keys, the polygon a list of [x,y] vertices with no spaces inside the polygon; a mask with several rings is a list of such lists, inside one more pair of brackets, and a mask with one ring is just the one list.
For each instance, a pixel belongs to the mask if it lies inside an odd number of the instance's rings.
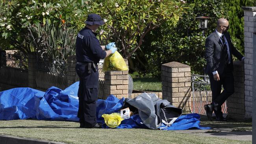
{"label": "sunlit tree with yellow-green leaves directly above the yellow bag", "polygon": [[175,24],[184,12],[184,0],[94,0],[91,11],[104,18],[100,40],[115,41],[122,56],[131,57],[145,35],[168,21]]}

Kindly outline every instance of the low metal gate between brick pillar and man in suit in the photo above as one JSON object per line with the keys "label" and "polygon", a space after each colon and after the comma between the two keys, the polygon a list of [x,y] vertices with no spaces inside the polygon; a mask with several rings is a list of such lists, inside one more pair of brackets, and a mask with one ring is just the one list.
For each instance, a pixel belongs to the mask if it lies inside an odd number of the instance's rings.
{"label": "low metal gate between brick pillar and man in suit", "polygon": [[[202,76],[198,74],[191,75],[192,81],[192,99],[191,109],[193,113],[206,114],[204,105],[211,103],[211,86],[209,76]],[[226,102],[222,105],[222,112],[227,113]]]}

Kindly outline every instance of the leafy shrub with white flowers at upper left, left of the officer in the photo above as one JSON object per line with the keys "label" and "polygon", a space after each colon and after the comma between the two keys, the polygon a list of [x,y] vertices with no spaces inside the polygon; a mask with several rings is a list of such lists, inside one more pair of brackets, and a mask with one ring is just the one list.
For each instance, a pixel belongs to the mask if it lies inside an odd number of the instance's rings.
{"label": "leafy shrub with white flowers at upper left, left of the officer", "polygon": [[[0,46],[18,49],[24,54],[36,51],[30,29],[40,24],[53,24],[56,29],[73,28],[75,33],[84,26],[88,2],[83,0],[1,0],[0,3]],[[38,28],[38,27],[37,27]],[[44,30],[44,29],[43,29]],[[59,30],[53,31],[58,32]],[[63,31],[65,33],[65,31]],[[55,34],[53,34],[55,35]],[[58,50],[58,44],[52,51]],[[57,46],[58,45],[58,46]],[[61,47],[63,51],[67,50]],[[74,47],[72,47],[74,50]],[[40,51],[40,50],[37,50]],[[70,50],[67,50],[70,51]],[[49,50],[48,50],[49,52]],[[68,53],[68,52],[67,52]]]}

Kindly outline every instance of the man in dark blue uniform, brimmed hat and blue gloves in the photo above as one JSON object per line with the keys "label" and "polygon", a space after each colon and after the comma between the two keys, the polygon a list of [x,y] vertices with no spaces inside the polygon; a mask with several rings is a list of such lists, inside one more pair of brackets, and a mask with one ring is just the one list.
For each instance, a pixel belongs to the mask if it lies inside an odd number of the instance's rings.
{"label": "man in dark blue uniform, brimmed hat and blue gloves", "polygon": [[96,122],[96,100],[98,98],[98,62],[117,48],[111,42],[100,46],[95,30],[104,22],[96,14],[89,14],[85,21],[86,26],[79,31],[76,37],[76,73],[80,78],[78,97],[80,127],[99,128]]}

